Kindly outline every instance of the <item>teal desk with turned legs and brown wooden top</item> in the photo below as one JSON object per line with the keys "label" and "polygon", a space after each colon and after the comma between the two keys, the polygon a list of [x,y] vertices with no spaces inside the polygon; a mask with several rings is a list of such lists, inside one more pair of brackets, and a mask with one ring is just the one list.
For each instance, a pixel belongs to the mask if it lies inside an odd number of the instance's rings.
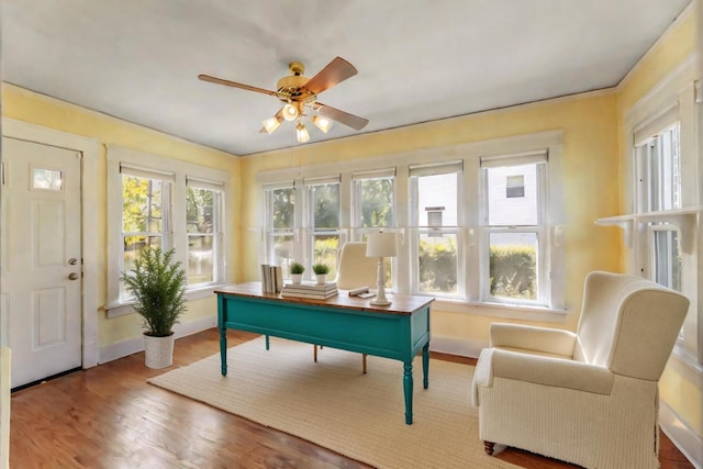
{"label": "teal desk with turned legs and brown wooden top", "polygon": [[[358,351],[403,362],[405,423],[413,423],[413,358],[422,350],[423,387],[429,386],[429,297],[390,294],[390,306],[341,291],[328,300],[261,293],[258,282],[215,290],[222,376],[227,375],[227,330]],[[313,364],[311,364],[313,366]]]}

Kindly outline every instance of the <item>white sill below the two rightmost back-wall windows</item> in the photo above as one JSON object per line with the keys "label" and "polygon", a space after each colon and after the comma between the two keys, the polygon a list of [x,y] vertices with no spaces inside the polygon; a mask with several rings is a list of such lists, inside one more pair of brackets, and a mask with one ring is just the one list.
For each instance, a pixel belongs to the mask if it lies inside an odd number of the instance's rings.
{"label": "white sill below the two rightmost back-wall windows", "polygon": [[475,301],[448,300],[438,298],[433,308],[448,313],[465,313],[477,316],[502,317],[510,320],[538,321],[565,324],[568,310],[525,304],[479,303]]}

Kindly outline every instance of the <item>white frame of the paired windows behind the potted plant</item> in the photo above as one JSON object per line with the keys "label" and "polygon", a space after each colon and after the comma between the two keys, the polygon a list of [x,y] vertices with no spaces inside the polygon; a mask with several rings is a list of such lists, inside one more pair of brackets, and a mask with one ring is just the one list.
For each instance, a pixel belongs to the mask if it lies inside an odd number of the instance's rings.
{"label": "white frame of the paired windows behind the potted plant", "polygon": [[[164,156],[147,154],[118,145],[107,147],[108,166],[108,302],[105,311],[108,317],[120,316],[133,312],[131,300],[120,299],[120,276],[122,273],[122,174],[120,168],[130,168],[130,172],[143,171],[145,176],[161,175],[171,177],[170,193],[170,223],[168,232],[164,233],[166,243],[164,248],[175,248],[174,259],[182,265],[188,265],[188,234],[186,230],[186,193],[189,178],[200,181],[210,181],[211,185],[222,188],[221,226],[227,226],[226,213],[230,193],[230,175],[225,171],[207,168],[204,166],[167,158]],[[226,230],[222,232],[222,253],[220,259],[219,278],[208,284],[188,286],[186,299],[194,300],[212,294],[212,290],[219,284],[227,283],[231,279],[230,267],[225,259],[230,255],[231,235]]]}

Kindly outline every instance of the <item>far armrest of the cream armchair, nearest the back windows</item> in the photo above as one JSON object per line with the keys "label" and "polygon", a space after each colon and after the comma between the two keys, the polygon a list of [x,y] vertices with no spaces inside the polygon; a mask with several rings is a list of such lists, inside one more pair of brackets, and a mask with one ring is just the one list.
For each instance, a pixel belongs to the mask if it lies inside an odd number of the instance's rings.
{"label": "far armrest of the cream armchair, nearest the back windows", "polygon": [[493,323],[491,347],[533,350],[573,357],[577,336],[572,332],[522,324]]}

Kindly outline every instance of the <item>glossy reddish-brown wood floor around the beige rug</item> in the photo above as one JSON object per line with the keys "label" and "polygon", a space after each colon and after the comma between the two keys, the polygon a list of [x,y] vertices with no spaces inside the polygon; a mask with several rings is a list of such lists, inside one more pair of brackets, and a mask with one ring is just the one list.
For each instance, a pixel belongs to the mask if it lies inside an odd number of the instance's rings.
{"label": "glossy reddish-brown wood floor around the beige rug", "polygon": [[[254,334],[228,331],[230,346]],[[216,330],[176,343],[174,365],[219,351]],[[434,358],[473,364],[471,359]],[[294,436],[146,383],[163,373],[134,354],[12,394],[10,466],[24,468],[367,468]],[[467,391],[468,392],[468,391]],[[576,466],[509,448],[525,468]],[[662,434],[662,469],[693,468]]]}

